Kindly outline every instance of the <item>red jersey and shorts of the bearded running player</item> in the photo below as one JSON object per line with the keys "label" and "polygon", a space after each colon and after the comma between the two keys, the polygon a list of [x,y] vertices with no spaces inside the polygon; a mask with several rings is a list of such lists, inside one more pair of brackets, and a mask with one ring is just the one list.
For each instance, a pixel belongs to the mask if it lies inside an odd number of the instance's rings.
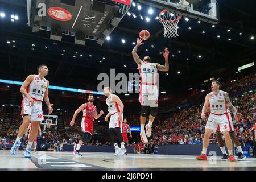
{"label": "red jersey and shorts of the bearded running player", "polygon": [[94,114],[97,112],[96,106],[93,104],[86,104],[84,110],[82,110],[82,133],[89,132],[91,135],[93,134],[93,121],[94,121]]}

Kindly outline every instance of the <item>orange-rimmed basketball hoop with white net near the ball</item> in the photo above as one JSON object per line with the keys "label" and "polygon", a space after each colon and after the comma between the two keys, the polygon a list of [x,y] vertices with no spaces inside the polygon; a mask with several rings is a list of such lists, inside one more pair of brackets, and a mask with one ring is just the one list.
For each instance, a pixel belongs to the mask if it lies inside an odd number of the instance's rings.
{"label": "orange-rimmed basketball hoop with white net near the ball", "polygon": [[164,26],[164,37],[170,38],[179,36],[177,33],[177,24],[181,18],[181,14],[171,13],[168,10],[163,10],[159,13],[159,21]]}

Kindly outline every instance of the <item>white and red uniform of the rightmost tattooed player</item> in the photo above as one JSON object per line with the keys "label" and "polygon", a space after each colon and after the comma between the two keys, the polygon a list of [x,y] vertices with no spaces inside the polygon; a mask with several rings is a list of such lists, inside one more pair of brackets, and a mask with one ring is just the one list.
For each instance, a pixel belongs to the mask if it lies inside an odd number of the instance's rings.
{"label": "white and red uniform of the rightmost tattooed player", "polygon": [[213,130],[215,133],[217,127],[220,126],[220,132],[233,130],[232,118],[228,114],[228,107],[224,98],[224,92],[219,90],[215,95],[210,93],[210,115],[205,125],[205,129]]}

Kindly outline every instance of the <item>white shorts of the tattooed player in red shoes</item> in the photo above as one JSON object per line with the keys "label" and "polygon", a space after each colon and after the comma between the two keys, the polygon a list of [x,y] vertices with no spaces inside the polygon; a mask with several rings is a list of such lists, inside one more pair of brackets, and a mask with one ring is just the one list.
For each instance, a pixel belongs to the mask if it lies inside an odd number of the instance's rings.
{"label": "white shorts of the tattooed player in red shoes", "polygon": [[213,133],[216,133],[217,127],[220,127],[220,132],[230,131],[233,129],[233,126],[230,123],[229,114],[216,115],[210,113],[209,118],[207,120],[207,124],[205,125],[205,129],[210,129]]}

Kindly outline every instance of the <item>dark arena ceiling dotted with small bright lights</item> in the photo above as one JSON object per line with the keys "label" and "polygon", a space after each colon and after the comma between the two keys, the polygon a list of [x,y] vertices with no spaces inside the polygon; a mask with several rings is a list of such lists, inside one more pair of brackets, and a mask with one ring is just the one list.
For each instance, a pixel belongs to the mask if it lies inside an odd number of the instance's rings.
{"label": "dark arena ceiling dotted with small bright lights", "polygon": [[[70,36],[64,35],[63,41],[57,42],[49,39],[47,31],[32,32],[27,26],[26,1],[0,0],[0,11],[5,13],[5,17],[0,17],[1,78],[23,81],[36,72],[36,65],[47,64],[51,84],[96,90],[97,75],[109,73],[110,68],[115,68],[116,73],[138,72],[131,51],[139,31],[147,29],[151,38],[139,48],[139,56],[150,55],[151,60],[164,64],[159,52],[168,48],[170,71],[168,75],[160,73],[160,87],[170,93],[187,92],[210,77],[234,74],[237,67],[255,59],[256,39],[251,39],[256,36],[255,1],[217,2],[220,23],[215,27],[195,19],[182,19],[179,36],[164,38],[163,26],[155,19],[160,10],[154,9],[148,15],[149,6],[142,5],[142,10],[131,7],[137,18],[125,15],[103,46],[94,40],[81,46],[74,44]],[[11,22],[11,14],[18,15],[18,19]],[[142,20],[139,14],[148,16],[150,22]],[[123,44],[121,39],[126,42]]]}

